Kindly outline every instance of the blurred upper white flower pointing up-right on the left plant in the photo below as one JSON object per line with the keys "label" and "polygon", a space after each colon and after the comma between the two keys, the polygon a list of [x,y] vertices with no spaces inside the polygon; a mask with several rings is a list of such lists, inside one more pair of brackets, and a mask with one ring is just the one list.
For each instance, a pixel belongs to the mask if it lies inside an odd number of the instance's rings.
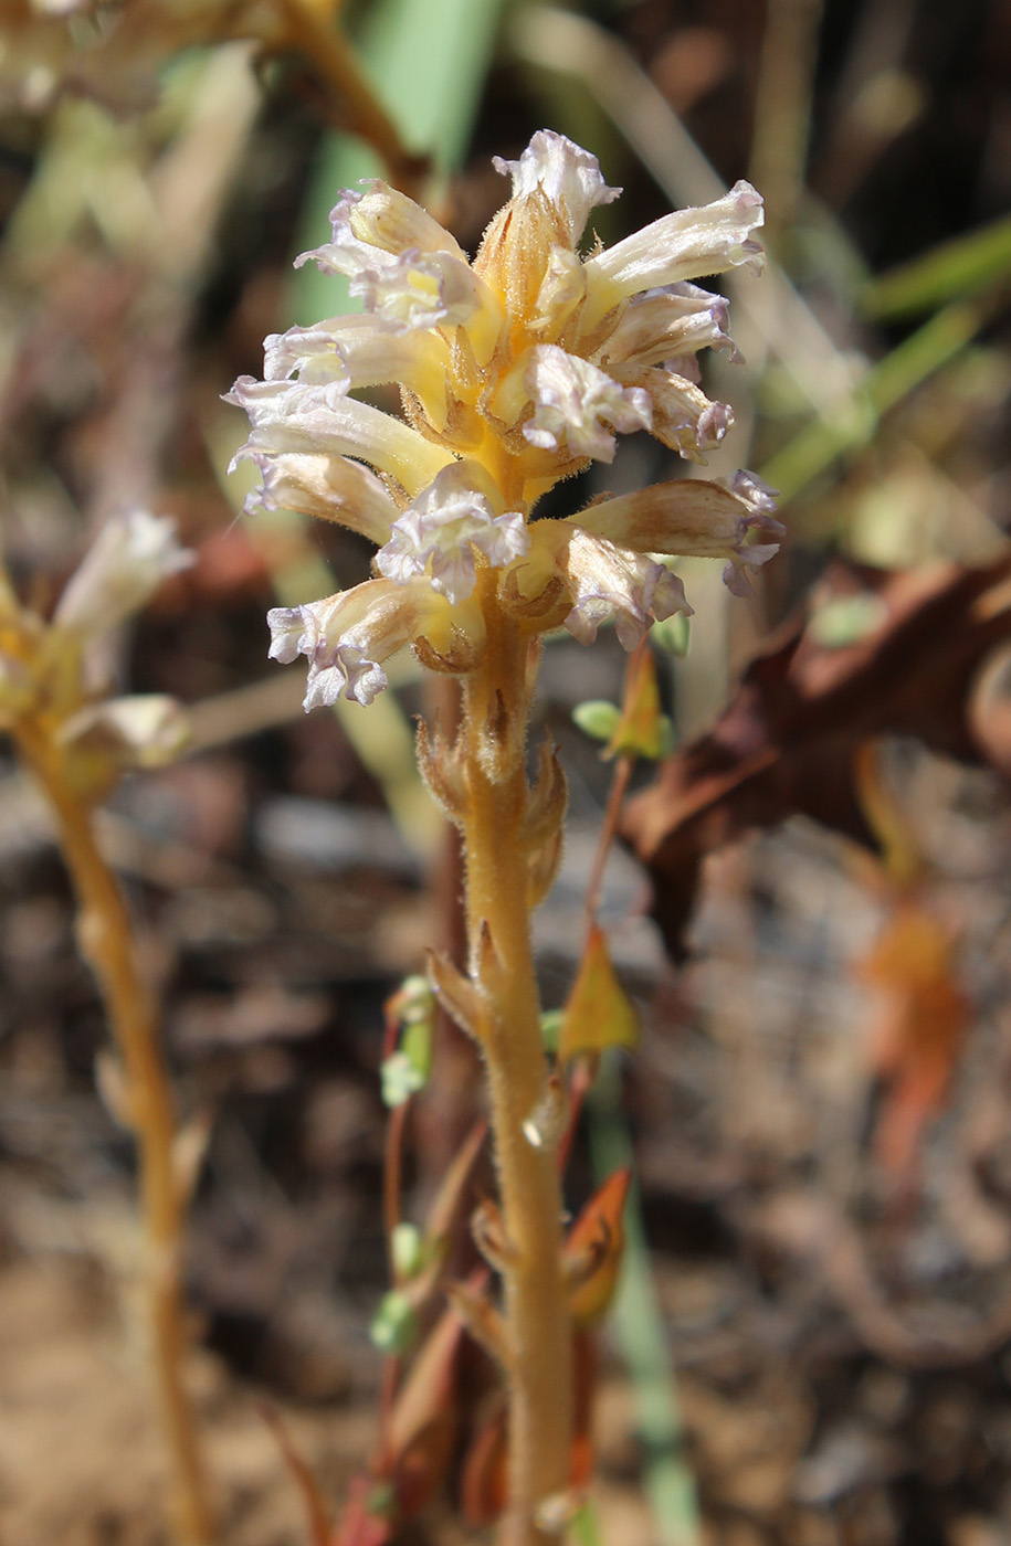
{"label": "blurred upper white flower pointing up-right on the left plant", "polygon": [[168,575],[196,555],[176,541],[175,521],[133,510],[108,521],[63,591],[53,621],[76,634],[104,634],[139,612]]}

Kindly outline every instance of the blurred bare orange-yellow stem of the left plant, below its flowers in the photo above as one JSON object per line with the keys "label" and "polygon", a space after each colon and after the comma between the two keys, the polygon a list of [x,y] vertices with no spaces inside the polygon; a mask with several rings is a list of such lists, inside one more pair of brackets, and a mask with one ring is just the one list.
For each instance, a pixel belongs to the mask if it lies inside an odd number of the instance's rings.
{"label": "blurred bare orange-yellow stem of the left plant, below its flowers", "polygon": [[179,1283],[184,1200],[173,1169],[175,1110],[158,1045],[155,1003],[141,977],[122,894],[97,847],[90,810],[66,776],[59,747],[45,728],[32,724],[22,724],[15,739],[57,816],[60,849],[77,894],[80,951],[97,979],[127,1078],[128,1115],[139,1152],[151,1360],[172,1464],[173,1534],[179,1546],[209,1546],[215,1531],[182,1384],[187,1340]]}

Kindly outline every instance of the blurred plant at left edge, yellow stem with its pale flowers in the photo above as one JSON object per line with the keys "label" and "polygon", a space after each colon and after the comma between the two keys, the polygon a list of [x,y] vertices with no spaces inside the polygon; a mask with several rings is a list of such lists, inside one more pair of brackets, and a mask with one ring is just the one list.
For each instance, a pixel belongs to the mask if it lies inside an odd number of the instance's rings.
{"label": "blurred plant at left edge, yellow stem with its pale flowers", "polygon": [[196,1130],[176,1125],[150,969],[94,824],[97,804],[124,771],[161,767],[189,741],[189,716],[175,699],[110,696],[104,646],[195,560],[179,546],[173,521],[130,510],[99,530],[48,618],[19,601],[0,561],[0,731],[12,737],[48,799],[77,897],[77,943],[94,972],[114,1047],[114,1057],[107,1054],[100,1065],[100,1088],[136,1138],[141,1303],[168,1458],[173,1540],[210,1546],[212,1510],[182,1367],[189,1195],[179,1155]]}

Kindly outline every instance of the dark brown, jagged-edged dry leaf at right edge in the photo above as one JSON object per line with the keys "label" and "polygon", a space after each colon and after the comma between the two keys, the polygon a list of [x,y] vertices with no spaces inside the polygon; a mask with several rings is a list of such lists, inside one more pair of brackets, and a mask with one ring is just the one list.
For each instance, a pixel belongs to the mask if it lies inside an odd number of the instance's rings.
{"label": "dark brown, jagged-edged dry leaf at right edge", "polygon": [[877,849],[855,781],[867,741],[912,736],[963,762],[1011,765],[996,722],[980,730],[975,693],[980,668],[1011,637],[1011,555],[898,575],[838,563],[816,601],[867,591],[883,603],[880,625],[830,648],[807,615],[784,623],[714,728],[626,805],[618,832],[652,877],[652,912],[674,959],[685,955],[702,860],[748,829],[802,813]]}

